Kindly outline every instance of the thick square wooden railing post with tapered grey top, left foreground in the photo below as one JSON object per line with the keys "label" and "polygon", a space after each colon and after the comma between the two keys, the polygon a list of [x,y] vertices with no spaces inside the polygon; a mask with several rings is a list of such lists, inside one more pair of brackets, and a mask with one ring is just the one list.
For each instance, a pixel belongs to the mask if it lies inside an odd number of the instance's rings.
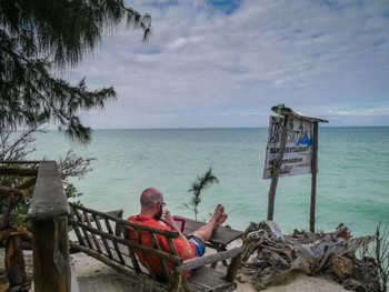
{"label": "thick square wooden railing post with tapered grey top, left foreground", "polygon": [[27,218],[32,222],[33,285],[36,292],[70,292],[69,204],[54,161],[39,164]]}

